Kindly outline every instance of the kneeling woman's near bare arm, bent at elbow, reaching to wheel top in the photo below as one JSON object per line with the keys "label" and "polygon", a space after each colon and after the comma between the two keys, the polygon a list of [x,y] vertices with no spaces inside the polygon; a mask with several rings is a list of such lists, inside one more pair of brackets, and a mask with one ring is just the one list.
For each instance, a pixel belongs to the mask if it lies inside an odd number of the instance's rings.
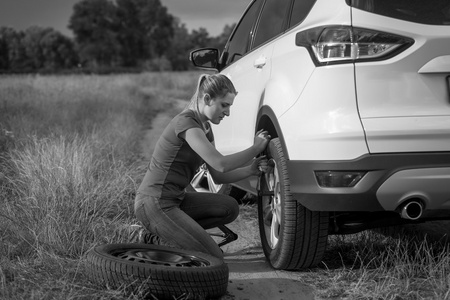
{"label": "kneeling woman's near bare arm, bent at elbow, reaching to wheel top", "polygon": [[269,142],[267,132],[260,130],[256,133],[254,143],[251,147],[224,156],[217,151],[200,128],[190,128],[183,132],[181,137],[186,140],[189,146],[206,162],[206,164],[208,164],[208,166],[221,173],[227,173],[244,166],[256,155],[261,153]]}

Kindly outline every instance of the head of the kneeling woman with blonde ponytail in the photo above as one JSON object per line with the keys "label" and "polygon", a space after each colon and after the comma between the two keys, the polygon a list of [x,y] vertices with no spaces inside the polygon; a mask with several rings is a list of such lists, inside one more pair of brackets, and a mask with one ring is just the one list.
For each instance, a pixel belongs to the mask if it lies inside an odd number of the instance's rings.
{"label": "head of the kneeling woman with blonde ponytail", "polygon": [[230,114],[237,91],[231,80],[222,74],[200,76],[197,90],[189,108],[194,110],[202,121],[219,124]]}

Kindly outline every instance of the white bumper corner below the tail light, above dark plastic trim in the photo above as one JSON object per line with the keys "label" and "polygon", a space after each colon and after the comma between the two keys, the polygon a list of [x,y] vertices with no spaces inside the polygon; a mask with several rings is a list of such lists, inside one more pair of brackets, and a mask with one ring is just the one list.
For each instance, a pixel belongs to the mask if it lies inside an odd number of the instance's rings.
{"label": "white bumper corner below the tail light, above dark plastic trim", "polygon": [[353,65],[317,68],[278,122],[291,160],[349,160],[367,153]]}

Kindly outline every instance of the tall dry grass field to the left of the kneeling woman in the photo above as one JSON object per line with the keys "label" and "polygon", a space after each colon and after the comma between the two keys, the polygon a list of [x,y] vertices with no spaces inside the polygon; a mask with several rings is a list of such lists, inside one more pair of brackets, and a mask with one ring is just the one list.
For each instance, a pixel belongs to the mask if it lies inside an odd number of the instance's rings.
{"label": "tall dry grass field to the left of the kneeling woman", "polygon": [[131,297],[86,281],[83,255],[126,242],[152,117],[197,73],[0,80],[0,298]]}

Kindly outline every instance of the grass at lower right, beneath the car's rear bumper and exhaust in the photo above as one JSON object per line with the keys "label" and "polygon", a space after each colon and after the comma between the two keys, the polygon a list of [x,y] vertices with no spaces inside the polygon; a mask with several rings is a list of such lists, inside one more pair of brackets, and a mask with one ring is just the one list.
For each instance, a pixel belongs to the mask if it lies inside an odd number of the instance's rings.
{"label": "grass at lower right, beneath the car's rear bumper and exhaust", "polygon": [[450,299],[449,245],[411,233],[332,236],[320,299]]}

